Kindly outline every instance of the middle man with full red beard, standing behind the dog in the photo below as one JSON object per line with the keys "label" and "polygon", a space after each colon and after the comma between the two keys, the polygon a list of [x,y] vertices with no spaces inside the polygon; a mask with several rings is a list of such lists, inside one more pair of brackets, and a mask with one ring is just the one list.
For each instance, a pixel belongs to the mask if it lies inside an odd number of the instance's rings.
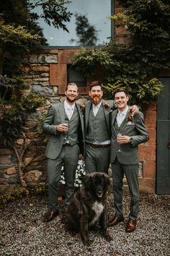
{"label": "middle man with full red beard, standing behind the dog", "polygon": [[[91,82],[89,96],[91,101],[85,103],[85,138],[84,155],[86,173],[94,171],[107,173],[110,163],[110,114],[117,108],[114,101],[102,100],[103,90],[99,81]],[[138,107],[132,106],[133,114]]]}

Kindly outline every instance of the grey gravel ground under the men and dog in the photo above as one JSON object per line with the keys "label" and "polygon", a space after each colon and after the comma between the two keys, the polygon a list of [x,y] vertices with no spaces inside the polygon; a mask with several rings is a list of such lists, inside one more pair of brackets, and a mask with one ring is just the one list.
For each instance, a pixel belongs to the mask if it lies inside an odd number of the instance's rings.
{"label": "grey gravel ground under the men and dog", "polygon": [[[109,216],[114,216],[113,195],[108,196]],[[124,195],[125,222],[130,198]],[[62,202],[61,202],[62,205]],[[65,231],[61,216],[43,223],[47,197],[20,199],[0,210],[0,255],[10,256],[100,256],[170,255],[170,196],[140,195],[137,229],[125,233],[125,223],[109,227],[112,241],[90,231],[91,245],[84,247],[79,234]]]}

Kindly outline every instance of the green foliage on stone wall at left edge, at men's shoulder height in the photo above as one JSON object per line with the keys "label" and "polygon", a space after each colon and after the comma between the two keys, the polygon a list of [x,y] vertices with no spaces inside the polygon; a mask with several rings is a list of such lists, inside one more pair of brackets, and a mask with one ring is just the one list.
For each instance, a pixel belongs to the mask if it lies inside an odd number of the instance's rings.
{"label": "green foliage on stone wall at left edge, at men's shoulder height", "polygon": [[1,105],[0,144],[14,145],[14,140],[22,137],[24,122],[30,113],[45,103],[45,99],[36,95],[24,95],[21,91],[12,95],[12,105]]}

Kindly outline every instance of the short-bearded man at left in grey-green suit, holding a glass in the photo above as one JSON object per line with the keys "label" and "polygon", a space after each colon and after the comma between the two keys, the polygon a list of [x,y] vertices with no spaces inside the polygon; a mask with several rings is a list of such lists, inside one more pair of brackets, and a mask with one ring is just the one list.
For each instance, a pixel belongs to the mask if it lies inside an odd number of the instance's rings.
{"label": "short-bearded man at left in grey-green suit, holding a glass", "polygon": [[48,194],[50,210],[45,222],[52,221],[58,215],[58,181],[64,166],[66,180],[65,205],[68,205],[74,192],[74,179],[79,161],[79,134],[84,136],[84,120],[76,98],[79,95],[75,83],[69,83],[66,100],[50,107],[42,129],[48,133],[46,156],[48,158]]}

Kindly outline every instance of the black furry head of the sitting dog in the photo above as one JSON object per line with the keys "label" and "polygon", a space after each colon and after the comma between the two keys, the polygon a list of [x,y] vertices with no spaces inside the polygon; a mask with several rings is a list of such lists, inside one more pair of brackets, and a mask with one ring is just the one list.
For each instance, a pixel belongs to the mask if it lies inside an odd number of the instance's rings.
{"label": "black furry head of the sitting dog", "polygon": [[84,180],[84,187],[86,188],[86,191],[91,192],[94,197],[102,198],[106,195],[109,187],[109,176],[100,172],[87,174]]}

